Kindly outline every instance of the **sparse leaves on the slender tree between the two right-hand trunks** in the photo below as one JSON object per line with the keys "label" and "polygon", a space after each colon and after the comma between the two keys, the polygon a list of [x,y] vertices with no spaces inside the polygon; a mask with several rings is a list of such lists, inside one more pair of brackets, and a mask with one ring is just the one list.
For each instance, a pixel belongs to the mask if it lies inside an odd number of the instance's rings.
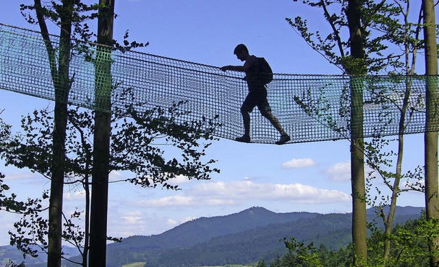
{"label": "sparse leaves on the slender tree between the two right-hand trunks", "polygon": [[[404,3],[406,8],[404,9]],[[383,23],[381,23],[381,31],[383,33],[387,33],[389,36],[390,44],[393,44],[396,47],[401,48],[402,54],[399,60],[401,63],[399,65],[390,65],[393,66],[393,71],[388,71],[391,75],[394,74],[402,74],[402,75],[412,75],[415,73],[415,64],[416,64],[416,54],[418,50],[423,48],[419,46],[423,40],[420,40],[420,30],[421,24],[420,21],[422,19],[421,11],[418,14],[418,21],[416,23],[409,22],[409,10],[410,10],[410,1],[394,1],[394,9],[396,13],[390,14],[390,18],[383,18]],[[401,21],[401,23],[400,23]],[[410,56],[412,57],[410,59]],[[401,60],[403,57],[403,60]],[[387,123],[392,123],[392,119],[386,118],[385,115],[385,107],[394,105],[397,107],[399,114],[399,136],[396,140],[397,142],[397,151],[392,151],[388,149],[390,140],[385,139],[380,136],[380,132],[378,131],[377,135],[372,138],[370,142],[365,142],[365,154],[367,157],[368,165],[374,170],[369,174],[367,182],[369,183],[369,192],[372,188],[372,181],[376,179],[376,177],[381,178],[381,182],[385,185],[390,193],[385,194],[382,190],[375,186],[375,191],[377,192],[377,196],[370,199],[372,196],[368,198],[368,203],[375,207],[377,210],[377,214],[379,218],[383,220],[385,225],[385,230],[383,233],[378,234],[377,236],[381,236],[383,238],[383,265],[392,264],[394,259],[394,255],[391,252],[392,242],[396,242],[392,240],[392,227],[393,227],[393,214],[396,207],[396,201],[399,195],[402,192],[408,191],[413,188],[420,188],[418,186],[420,184],[420,175],[416,174],[416,170],[420,170],[420,166],[415,169],[414,173],[404,174],[402,172],[402,162],[403,162],[403,134],[405,133],[405,129],[410,125],[410,121],[412,118],[412,114],[414,110],[425,110],[425,104],[422,94],[418,94],[412,88],[412,77],[394,77],[395,80],[401,79],[405,81],[405,90],[403,92],[396,92],[392,86],[389,88],[373,88],[374,97],[372,98],[372,103],[379,103],[383,108],[383,120],[387,120]],[[397,97],[396,97],[397,96]],[[393,163],[394,162],[394,163]],[[390,169],[394,167],[394,171]],[[406,186],[405,188],[401,188],[401,180],[407,179],[406,184],[410,185],[411,183],[414,186]],[[417,179],[417,181],[416,181]],[[378,199],[378,196],[381,199]],[[383,207],[389,205],[390,211],[388,214],[383,212]]]}

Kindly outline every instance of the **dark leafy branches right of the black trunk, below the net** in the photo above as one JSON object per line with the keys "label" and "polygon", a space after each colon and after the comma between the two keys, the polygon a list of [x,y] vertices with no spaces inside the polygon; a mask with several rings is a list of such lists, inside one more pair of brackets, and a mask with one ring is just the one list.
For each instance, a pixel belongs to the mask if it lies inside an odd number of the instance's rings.
{"label": "dark leafy branches right of the black trunk, below the net", "polygon": [[[130,92],[124,92],[123,97],[130,97]],[[210,179],[211,173],[219,173],[217,168],[210,166],[215,160],[202,161],[211,141],[216,140],[212,133],[220,126],[215,122],[217,116],[176,123],[178,118],[184,118],[190,112],[185,110],[185,101],[167,109],[156,107],[145,112],[138,112],[135,106],[126,107],[126,112],[115,111],[111,170],[130,170],[136,177],[128,181],[141,186],[163,183],[168,189],[177,188],[167,181],[179,175],[188,179]],[[180,151],[181,157],[166,160],[161,145]]]}

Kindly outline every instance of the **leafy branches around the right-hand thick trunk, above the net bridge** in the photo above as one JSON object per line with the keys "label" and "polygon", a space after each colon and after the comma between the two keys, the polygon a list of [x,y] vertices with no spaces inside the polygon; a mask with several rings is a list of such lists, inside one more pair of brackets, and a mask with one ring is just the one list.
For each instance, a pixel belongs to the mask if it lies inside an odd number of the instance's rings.
{"label": "leafy branches around the right-hand thick trunk, above the net bridge", "polygon": [[405,23],[403,19],[407,11],[403,10],[403,5],[407,1],[361,1],[360,30],[366,55],[364,62],[357,62],[348,51],[351,46],[345,16],[348,0],[300,1],[310,8],[321,10],[328,27],[313,31],[302,16],[286,18],[286,21],[313,50],[344,73],[405,73],[406,48],[417,53],[424,47],[423,40],[418,38],[422,27],[420,21]]}

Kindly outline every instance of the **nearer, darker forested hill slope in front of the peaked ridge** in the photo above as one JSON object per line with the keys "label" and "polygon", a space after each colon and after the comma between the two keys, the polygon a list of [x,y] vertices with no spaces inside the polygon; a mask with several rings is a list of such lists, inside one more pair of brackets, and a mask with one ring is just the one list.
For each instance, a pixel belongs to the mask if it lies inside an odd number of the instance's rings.
{"label": "nearer, darker forested hill slope in front of the peaked ridge", "polygon": [[[395,224],[419,218],[421,208],[399,207]],[[368,209],[368,220],[376,218]],[[212,238],[188,248],[165,251],[158,258],[150,258],[145,266],[224,266],[226,264],[249,264],[260,259],[270,261],[287,252],[281,240],[294,237],[298,241],[313,242],[315,246],[324,244],[328,249],[337,250],[351,241],[351,214],[318,214],[287,223],[257,227],[240,233]],[[380,224],[379,224],[380,225]]]}

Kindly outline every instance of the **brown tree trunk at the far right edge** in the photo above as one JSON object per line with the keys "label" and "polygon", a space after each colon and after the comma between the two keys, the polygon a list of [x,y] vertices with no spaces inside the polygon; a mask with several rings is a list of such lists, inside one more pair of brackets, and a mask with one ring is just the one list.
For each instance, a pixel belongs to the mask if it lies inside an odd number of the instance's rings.
{"label": "brown tree trunk at the far right edge", "polygon": [[[425,209],[427,219],[439,219],[438,132],[431,131],[438,122],[438,52],[436,48],[436,15],[433,0],[423,0],[425,73],[427,77],[427,115],[425,117]],[[439,266],[439,239],[429,240],[430,266]]]}

